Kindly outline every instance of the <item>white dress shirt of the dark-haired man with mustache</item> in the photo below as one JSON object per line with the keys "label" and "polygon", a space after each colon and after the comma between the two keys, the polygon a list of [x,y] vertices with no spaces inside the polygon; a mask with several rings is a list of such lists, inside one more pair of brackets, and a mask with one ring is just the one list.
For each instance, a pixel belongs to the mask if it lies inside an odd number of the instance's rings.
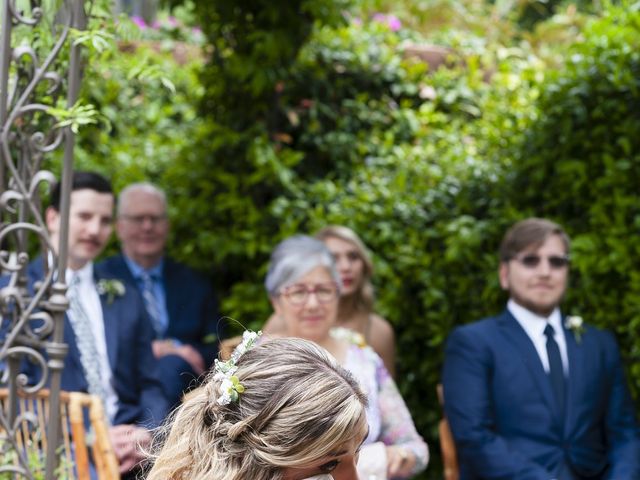
{"label": "white dress shirt of the dark-haired man with mustache", "polygon": [[[89,262],[80,270],[71,270],[67,268],[66,280],[71,285],[74,276],[79,279],[78,293],[79,300],[85,313],[91,322],[91,330],[96,341],[96,350],[98,351],[98,361],[100,364],[100,376],[102,379],[102,387],[105,392],[105,412],[110,422],[113,422],[116,412],[118,411],[118,395],[113,388],[113,372],[109,364],[109,356],[107,354],[107,339],[105,336],[104,319],[102,316],[102,305],[100,296],[93,279],[93,262]],[[72,316],[73,313],[67,310],[67,315]]]}

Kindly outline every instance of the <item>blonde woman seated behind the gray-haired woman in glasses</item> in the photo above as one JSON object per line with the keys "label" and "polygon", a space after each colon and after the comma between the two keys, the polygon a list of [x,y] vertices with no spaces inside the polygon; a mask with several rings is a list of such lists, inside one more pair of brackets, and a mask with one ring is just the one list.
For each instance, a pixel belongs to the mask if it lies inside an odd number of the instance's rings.
{"label": "blonde woman seated behind the gray-haired woman in glasses", "polygon": [[[367,248],[353,230],[340,225],[323,228],[316,238],[333,254],[342,281],[337,325],[362,335],[364,342],[371,345],[395,378],[395,334],[389,321],[373,310],[373,262]],[[282,318],[275,315],[264,326],[264,331],[272,334],[281,335],[285,330]]]}

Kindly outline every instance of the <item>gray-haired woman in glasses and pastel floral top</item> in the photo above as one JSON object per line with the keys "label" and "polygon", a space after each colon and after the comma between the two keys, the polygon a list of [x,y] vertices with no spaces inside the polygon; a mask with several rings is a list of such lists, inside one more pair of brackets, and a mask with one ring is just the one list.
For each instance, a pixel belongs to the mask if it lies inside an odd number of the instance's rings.
{"label": "gray-haired woman in glasses and pastel floral top", "polygon": [[426,468],[427,445],[380,357],[359,336],[336,328],[342,287],[333,256],[319,240],[296,235],[276,246],[265,287],[285,335],[312,340],[356,377],[369,398],[361,477],[409,478]]}

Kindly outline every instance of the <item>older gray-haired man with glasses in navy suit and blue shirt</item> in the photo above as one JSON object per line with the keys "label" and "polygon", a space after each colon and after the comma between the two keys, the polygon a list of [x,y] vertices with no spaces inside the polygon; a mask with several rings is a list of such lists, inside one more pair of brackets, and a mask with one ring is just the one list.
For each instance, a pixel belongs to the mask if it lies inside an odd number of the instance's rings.
{"label": "older gray-haired man with glasses in navy suit and blue shirt", "polygon": [[116,231],[122,253],[101,267],[140,292],[156,333],[153,353],[165,395],[178,403],[217,357],[221,324],[213,289],[204,276],[165,256],[167,199],[158,187],[134,183],[122,190]]}

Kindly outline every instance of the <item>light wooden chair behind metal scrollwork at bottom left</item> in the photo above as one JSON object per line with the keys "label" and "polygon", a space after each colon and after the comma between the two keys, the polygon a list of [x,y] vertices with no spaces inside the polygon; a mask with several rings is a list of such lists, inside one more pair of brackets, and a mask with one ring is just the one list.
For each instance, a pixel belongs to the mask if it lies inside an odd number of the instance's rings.
{"label": "light wooden chair behind metal scrollwork at bottom left", "polygon": [[[8,411],[9,392],[0,389],[0,407]],[[47,423],[49,419],[49,391],[42,389],[33,395],[21,393],[18,412],[30,412],[35,425],[23,420],[18,428],[16,442],[29,456],[41,455],[47,448]],[[92,435],[85,429],[85,413],[88,415]],[[6,415],[6,414],[5,414]],[[90,480],[90,459],[93,460],[98,480],[116,480],[118,460],[113,451],[102,401],[95,395],[80,392],[60,393],[60,419],[62,444],[60,446],[59,478]],[[3,432],[0,432],[2,436]]]}

